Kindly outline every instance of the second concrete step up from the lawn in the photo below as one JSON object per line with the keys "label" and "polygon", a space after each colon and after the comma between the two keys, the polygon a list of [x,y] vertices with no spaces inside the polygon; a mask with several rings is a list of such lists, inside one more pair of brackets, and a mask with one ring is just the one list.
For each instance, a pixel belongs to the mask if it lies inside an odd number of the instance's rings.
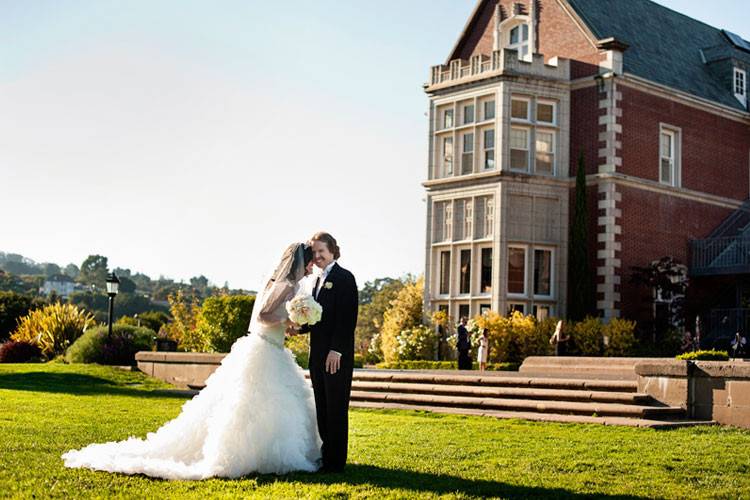
{"label": "second concrete step up from the lawn", "polygon": [[442,396],[436,394],[385,393],[356,391],[351,393],[352,401],[373,403],[401,403],[446,408],[466,408],[482,410],[522,411],[539,413],[617,416],[631,418],[679,418],[684,415],[680,407],[646,406],[637,404],[600,403],[580,401],[540,401],[535,399],[511,399],[472,396]]}

